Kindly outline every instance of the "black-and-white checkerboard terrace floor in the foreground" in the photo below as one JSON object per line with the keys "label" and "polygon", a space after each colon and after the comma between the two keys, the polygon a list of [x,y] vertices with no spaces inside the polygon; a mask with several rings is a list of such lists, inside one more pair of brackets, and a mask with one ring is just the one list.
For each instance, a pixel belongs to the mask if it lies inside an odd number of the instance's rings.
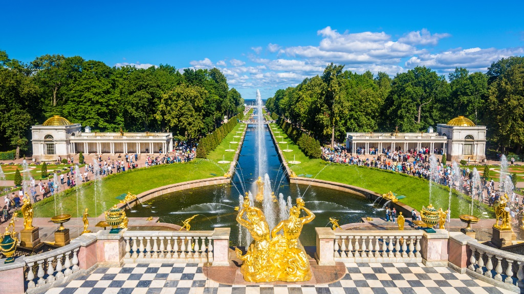
{"label": "black-and-white checkerboard terrace floor in the foreground", "polygon": [[347,273],[328,285],[222,285],[206,278],[202,264],[126,264],[97,268],[47,294],[498,294],[512,293],[458,274],[422,264],[346,263]]}

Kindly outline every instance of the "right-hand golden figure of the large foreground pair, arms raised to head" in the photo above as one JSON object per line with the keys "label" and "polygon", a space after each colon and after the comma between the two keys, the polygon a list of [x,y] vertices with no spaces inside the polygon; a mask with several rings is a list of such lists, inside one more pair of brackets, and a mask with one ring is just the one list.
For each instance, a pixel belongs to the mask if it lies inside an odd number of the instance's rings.
{"label": "right-hand golden figure of the large foreground pair, arms raised to head", "polygon": [[[304,200],[297,198],[297,206],[290,209],[289,219],[279,222],[271,231],[271,251],[275,252],[272,260],[278,263],[275,268],[277,280],[296,282],[311,279],[309,259],[298,238],[304,224],[311,222],[315,214],[304,205]],[[300,217],[300,210],[304,210],[307,216]],[[282,235],[277,235],[280,230]]]}

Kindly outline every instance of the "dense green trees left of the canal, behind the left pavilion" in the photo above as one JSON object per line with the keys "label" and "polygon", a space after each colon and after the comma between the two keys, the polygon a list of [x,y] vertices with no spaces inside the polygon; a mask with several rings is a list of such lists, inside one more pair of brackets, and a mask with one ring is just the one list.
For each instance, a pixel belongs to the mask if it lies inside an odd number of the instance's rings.
{"label": "dense green trees left of the canal, behind the left pavilion", "polygon": [[197,138],[243,110],[218,69],[110,67],[80,56],[29,64],[0,51],[0,150],[30,146],[30,126],[60,115],[93,131],[168,131]]}

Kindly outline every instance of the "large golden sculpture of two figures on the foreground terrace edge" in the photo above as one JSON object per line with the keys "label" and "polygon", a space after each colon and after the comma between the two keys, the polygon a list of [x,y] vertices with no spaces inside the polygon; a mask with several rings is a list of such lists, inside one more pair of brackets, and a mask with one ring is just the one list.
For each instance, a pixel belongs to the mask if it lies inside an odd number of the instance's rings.
{"label": "large golden sculpture of two figures on the foreground terrace edge", "polygon": [[[303,225],[311,222],[315,215],[304,205],[304,200],[298,198],[297,205],[289,211],[289,219],[278,223],[270,232],[264,213],[257,207],[249,206],[249,198],[244,198],[236,220],[249,230],[254,241],[245,255],[238,248],[236,253],[243,261],[241,272],[246,281],[293,282],[311,279],[308,257],[298,238]],[[307,216],[300,217],[301,210]],[[279,234],[280,231],[282,234]]]}

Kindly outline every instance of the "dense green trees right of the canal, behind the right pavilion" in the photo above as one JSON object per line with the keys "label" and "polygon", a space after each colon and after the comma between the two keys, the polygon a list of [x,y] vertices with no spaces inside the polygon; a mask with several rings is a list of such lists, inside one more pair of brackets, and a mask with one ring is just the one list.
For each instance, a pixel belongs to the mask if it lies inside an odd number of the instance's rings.
{"label": "dense green trees right of the canal, behind the right pavilion", "polygon": [[447,79],[424,66],[391,78],[331,64],[322,76],[279,89],[266,107],[329,143],[344,141],[346,132],[425,131],[463,115],[487,126],[490,148],[520,154],[524,57],[501,59],[486,73],[456,68]]}

